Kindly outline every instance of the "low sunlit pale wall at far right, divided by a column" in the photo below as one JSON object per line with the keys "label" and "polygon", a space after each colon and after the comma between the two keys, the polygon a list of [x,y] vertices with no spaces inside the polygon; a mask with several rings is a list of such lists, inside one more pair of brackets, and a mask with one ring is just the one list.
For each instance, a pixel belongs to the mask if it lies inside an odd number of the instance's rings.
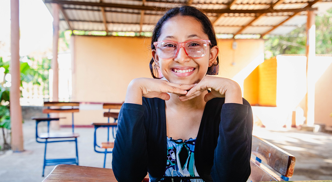
{"label": "low sunlit pale wall at far right, divided by a column", "polygon": [[[286,125],[291,123],[291,112],[296,115],[296,125],[303,124],[306,115],[306,57],[295,55],[277,56],[277,107],[282,108],[287,117]],[[315,83],[314,123],[332,126],[332,57],[316,56],[311,67]],[[303,112],[303,114],[302,114]]]}

